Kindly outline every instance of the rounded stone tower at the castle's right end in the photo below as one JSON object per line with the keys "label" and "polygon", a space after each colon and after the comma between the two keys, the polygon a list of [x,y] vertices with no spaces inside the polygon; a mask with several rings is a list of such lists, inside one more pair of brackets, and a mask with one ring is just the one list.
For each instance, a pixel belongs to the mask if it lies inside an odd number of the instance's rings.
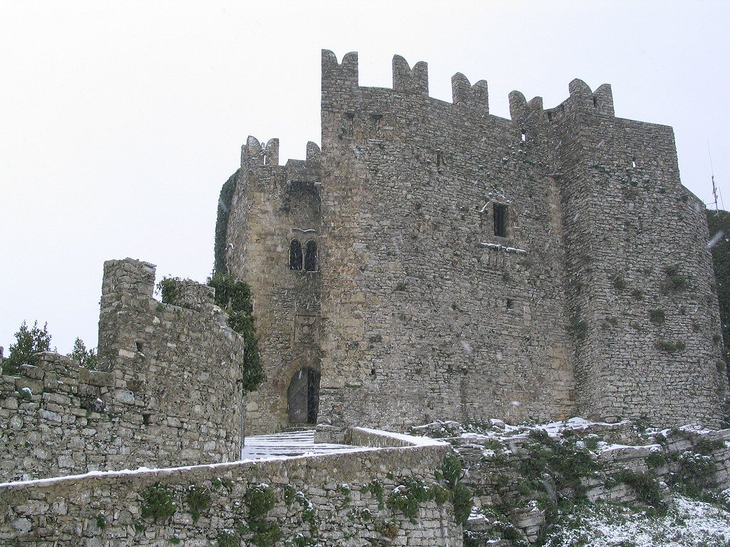
{"label": "rounded stone tower at the castle's right end", "polygon": [[580,80],[555,109],[513,110],[561,187],[579,414],[718,427],[727,380],[707,220],[681,185],[672,128],[613,117],[610,87]]}

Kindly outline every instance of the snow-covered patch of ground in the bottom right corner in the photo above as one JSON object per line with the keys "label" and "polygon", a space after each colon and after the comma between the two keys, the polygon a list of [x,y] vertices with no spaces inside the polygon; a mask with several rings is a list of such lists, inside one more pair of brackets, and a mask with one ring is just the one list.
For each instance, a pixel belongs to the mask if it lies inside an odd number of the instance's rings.
{"label": "snow-covered patch of ground in the bottom right corner", "polygon": [[[727,497],[730,491],[723,492]],[[730,511],[675,496],[666,516],[648,517],[616,505],[576,506],[545,547],[727,547]]]}

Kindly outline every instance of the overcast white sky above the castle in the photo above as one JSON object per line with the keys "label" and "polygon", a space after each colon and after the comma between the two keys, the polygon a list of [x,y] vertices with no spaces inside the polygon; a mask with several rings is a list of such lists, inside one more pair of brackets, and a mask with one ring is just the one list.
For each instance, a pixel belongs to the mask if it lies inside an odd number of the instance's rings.
{"label": "overcast white sky above the castle", "polygon": [[[616,115],[672,125],[682,180],[711,201],[730,180],[727,1],[0,0],[0,345],[24,319],[69,352],[96,346],[104,260],[204,281],[220,186],[251,134],[280,162],[320,141],[320,50],[391,58],[507,94],[613,86]],[[730,191],[726,193],[730,207]]]}

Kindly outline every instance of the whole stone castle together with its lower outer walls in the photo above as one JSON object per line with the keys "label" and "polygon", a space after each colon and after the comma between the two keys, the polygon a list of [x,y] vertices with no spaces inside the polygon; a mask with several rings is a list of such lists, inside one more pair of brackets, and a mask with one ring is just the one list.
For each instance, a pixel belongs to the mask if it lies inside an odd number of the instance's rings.
{"label": "whole stone castle together with its lower outer walls", "polygon": [[[524,497],[534,438],[494,461],[490,438],[452,438],[471,474],[448,484],[448,443],[382,430],[722,423],[704,205],[680,183],[672,129],[616,118],[608,85],[576,79],[553,109],[513,92],[511,120],[489,115],[486,82],[452,86],[453,103],[430,98],[426,64],[396,56],[393,89],[360,87],[356,53],[323,51],[321,150],[280,166],[276,139],[247,140],[215,261],[250,284],[257,391],[211,287],[160,303],[153,265],[104,264],[99,370],[47,352],[0,377],[0,543],[461,547],[485,521],[466,521],[457,482],[477,507]],[[356,448],[241,459],[244,432],[315,424]],[[641,445],[597,455],[607,476],[669,480],[678,454],[711,445],[704,486],[730,486],[730,430],[590,427]],[[591,500],[640,497],[591,480]],[[534,541],[545,509],[518,501],[505,514]]]}

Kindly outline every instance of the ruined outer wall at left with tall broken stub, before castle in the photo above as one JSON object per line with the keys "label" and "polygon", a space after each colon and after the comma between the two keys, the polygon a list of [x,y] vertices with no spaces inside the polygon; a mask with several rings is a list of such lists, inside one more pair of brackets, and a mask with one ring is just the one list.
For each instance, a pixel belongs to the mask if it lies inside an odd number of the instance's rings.
{"label": "ruined outer wall at left with tall broken stub, before castle", "polygon": [[152,298],[154,266],[104,263],[99,371],[58,354],[0,382],[1,480],[227,462],[242,443],[242,340],[187,284]]}

